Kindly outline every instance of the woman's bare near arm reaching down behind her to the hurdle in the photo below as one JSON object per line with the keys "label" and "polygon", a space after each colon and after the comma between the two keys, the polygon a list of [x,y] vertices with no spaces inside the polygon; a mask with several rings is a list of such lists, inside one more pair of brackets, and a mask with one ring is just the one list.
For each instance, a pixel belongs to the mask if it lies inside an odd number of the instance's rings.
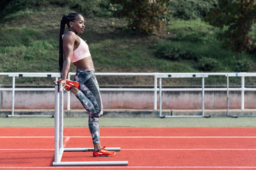
{"label": "woman's bare near arm reaching down behind her to the hurdle", "polygon": [[65,34],[65,36],[63,37],[64,64],[63,64],[62,75],[61,75],[61,83],[63,85],[63,89],[66,86],[68,72],[70,70],[70,64],[73,56],[75,41],[76,41],[76,34],[74,34],[74,32],[67,32],[67,34]]}

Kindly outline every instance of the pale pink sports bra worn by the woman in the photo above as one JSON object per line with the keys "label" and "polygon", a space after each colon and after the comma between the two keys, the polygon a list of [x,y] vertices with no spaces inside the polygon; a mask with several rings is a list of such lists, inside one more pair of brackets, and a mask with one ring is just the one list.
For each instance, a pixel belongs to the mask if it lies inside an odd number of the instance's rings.
{"label": "pale pink sports bra worn by the woman", "polygon": [[[62,38],[63,36],[64,35],[62,35]],[[91,56],[91,53],[89,51],[89,46],[86,44],[86,42],[82,38],[80,38],[79,36],[77,37],[80,39],[80,45],[73,52],[73,56],[71,59],[72,63]]]}

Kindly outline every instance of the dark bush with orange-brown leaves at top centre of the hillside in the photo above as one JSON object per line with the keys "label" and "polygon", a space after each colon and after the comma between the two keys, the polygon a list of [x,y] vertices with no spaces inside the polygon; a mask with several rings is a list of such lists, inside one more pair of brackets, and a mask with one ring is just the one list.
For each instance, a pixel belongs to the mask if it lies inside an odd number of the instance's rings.
{"label": "dark bush with orange-brown leaves at top centre of the hillside", "polygon": [[109,0],[116,16],[127,18],[130,29],[151,33],[164,24],[168,0]]}

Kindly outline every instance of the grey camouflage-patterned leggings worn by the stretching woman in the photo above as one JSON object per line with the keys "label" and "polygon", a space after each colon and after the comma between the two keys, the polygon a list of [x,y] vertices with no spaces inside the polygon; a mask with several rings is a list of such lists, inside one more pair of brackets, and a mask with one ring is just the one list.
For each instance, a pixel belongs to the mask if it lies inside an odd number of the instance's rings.
{"label": "grey camouflage-patterned leggings worn by the stretching woman", "polygon": [[103,115],[99,84],[94,69],[77,69],[75,81],[79,82],[79,92],[76,97],[89,113],[89,129],[93,143],[100,143],[99,117]]}

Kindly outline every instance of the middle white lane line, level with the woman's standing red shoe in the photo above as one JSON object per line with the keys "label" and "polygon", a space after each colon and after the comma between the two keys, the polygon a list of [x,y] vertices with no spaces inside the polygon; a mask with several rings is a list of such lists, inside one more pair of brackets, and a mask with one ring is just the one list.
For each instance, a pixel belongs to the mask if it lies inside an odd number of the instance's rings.
{"label": "middle white lane line, level with the woman's standing red shoe", "polygon": [[[0,151],[1,150],[54,150],[54,149],[0,149]],[[141,150],[141,151],[143,151],[143,150],[159,150],[159,151],[161,151],[161,150],[170,150],[170,151],[175,151],[175,150],[180,150],[180,151],[189,151],[189,150],[243,150],[243,151],[256,151],[256,149],[241,149],[241,148],[192,148],[192,149],[186,149],[186,148],[184,148],[184,149],[159,149],[159,148],[152,148],[152,149],[122,149],[121,148],[121,150]]]}

